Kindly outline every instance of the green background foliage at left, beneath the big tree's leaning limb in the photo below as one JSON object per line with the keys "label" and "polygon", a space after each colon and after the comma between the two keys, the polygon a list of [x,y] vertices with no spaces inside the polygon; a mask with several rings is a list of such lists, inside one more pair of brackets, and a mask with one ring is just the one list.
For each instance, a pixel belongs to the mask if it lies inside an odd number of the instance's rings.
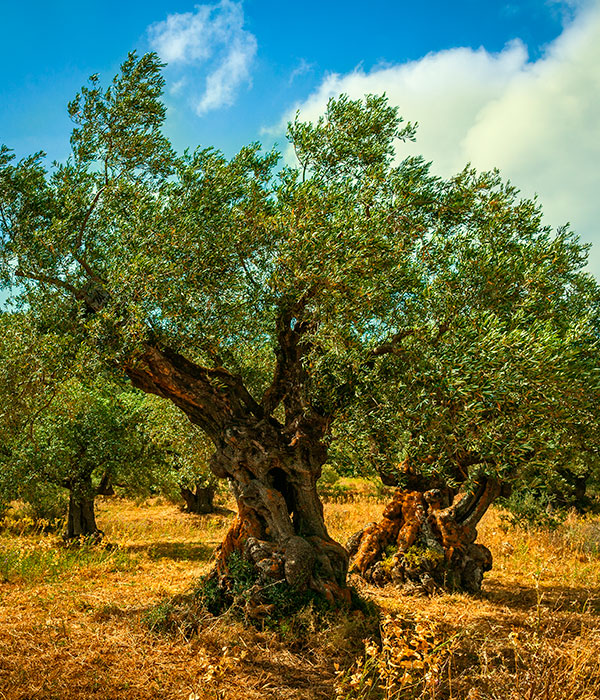
{"label": "green background foliage at left, beneath the big tree's leaning limb", "polygon": [[148,496],[207,479],[207,448],[180,412],[134,390],[118,373],[87,375],[85,349],[43,330],[31,314],[0,315],[0,500],[59,523],[69,489]]}

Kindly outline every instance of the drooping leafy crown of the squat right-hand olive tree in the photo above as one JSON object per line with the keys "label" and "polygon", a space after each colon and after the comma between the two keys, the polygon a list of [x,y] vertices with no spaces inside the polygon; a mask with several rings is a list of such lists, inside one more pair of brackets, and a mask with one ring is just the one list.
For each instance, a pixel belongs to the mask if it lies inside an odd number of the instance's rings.
{"label": "drooping leafy crown of the squat right-hand olive tree", "polygon": [[568,493],[559,474],[574,460],[590,478],[598,474],[595,328],[565,335],[533,318],[527,329],[511,329],[488,313],[473,323],[448,331],[434,348],[411,340],[400,358],[382,364],[386,377],[397,378],[373,383],[356,423],[344,426],[351,438],[341,449],[388,476],[394,462],[409,458],[451,484],[471,471],[518,487],[535,474]]}

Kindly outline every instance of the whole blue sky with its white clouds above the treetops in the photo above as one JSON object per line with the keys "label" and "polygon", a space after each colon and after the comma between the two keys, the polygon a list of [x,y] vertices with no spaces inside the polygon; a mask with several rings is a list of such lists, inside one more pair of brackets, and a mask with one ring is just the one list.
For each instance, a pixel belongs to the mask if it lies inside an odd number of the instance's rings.
{"label": "whole blue sky with its white clouds above the treetops", "polygon": [[419,122],[410,152],[442,175],[499,166],[548,223],[597,241],[600,276],[600,0],[36,0],[0,17],[0,143],[18,155],[64,158],[67,102],[132,49],[168,62],[178,148],[283,147],[297,108],[386,91]]}

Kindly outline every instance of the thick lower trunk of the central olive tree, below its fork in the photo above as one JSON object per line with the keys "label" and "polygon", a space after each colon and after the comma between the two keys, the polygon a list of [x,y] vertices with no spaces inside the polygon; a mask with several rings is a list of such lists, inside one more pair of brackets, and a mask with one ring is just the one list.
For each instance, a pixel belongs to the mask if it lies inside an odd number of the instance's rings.
{"label": "thick lower trunk of the central olive tree, below its fork", "polygon": [[213,471],[230,480],[238,506],[218,552],[217,575],[226,580],[235,552],[265,583],[285,580],[332,605],[349,603],[348,554],[327,533],[316,489],[320,446],[307,437],[292,445],[271,426],[261,428],[237,431],[213,458]]}

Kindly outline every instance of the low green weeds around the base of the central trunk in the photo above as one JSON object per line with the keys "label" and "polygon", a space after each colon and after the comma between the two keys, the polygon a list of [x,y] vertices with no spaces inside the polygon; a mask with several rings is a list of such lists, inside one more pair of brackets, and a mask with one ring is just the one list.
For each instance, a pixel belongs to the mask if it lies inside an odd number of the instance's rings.
{"label": "low green weeds around the base of the central trunk", "polygon": [[339,624],[340,612],[348,613],[364,625],[377,629],[377,607],[351,589],[352,604],[334,607],[311,590],[298,590],[285,580],[266,585],[252,563],[236,552],[227,560],[227,577],[213,572],[205,576],[191,593],[161,602],[145,615],[144,622],[154,632],[179,633],[189,638],[204,625],[227,617],[259,629],[270,629],[290,642]]}

